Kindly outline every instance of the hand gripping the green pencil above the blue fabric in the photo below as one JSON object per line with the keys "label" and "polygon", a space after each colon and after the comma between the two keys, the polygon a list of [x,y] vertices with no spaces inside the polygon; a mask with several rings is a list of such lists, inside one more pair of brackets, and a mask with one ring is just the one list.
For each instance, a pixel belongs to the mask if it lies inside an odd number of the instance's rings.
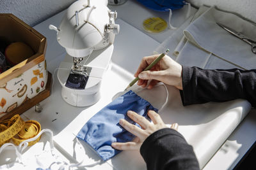
{"label": "hand gripping the green pencil above the blue fabric", "polygon": [[138,85],[146,87],[151,80],[148,89],[152,89],[159,81],[173,85],[182,90],[182,66],[168,56],[164,56],[150,71],[143,71],[159,55],[143,57],[138,70],[134,74],[139,77]]}

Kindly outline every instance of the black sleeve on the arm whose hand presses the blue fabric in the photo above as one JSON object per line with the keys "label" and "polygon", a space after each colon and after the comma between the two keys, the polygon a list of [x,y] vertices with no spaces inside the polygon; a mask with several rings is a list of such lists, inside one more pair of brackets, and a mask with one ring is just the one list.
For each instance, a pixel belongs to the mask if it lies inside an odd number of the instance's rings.
{"label": "black sleeve on the arm whose hand presses the blue fabric", "polygon": [[147,169],[199,169],[195,153],[177,131],[165,128],[154,132],[143,142],[140,153]]}

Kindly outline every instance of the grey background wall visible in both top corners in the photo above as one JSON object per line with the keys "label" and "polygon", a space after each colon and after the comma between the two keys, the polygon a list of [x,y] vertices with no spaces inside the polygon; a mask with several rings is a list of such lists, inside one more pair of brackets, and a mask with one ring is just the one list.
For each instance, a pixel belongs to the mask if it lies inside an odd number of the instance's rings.
{"label": "grey background wall visible in both top corners", "polygon": [[[75,0],[0,0],[0,13],[13,13],[27,24],[34,26],[60,12]],[[99,0],[95,0],[99,1]],[[216,5],[234,11],[256,22],[256,0],[188,0],[195,6]]]}

